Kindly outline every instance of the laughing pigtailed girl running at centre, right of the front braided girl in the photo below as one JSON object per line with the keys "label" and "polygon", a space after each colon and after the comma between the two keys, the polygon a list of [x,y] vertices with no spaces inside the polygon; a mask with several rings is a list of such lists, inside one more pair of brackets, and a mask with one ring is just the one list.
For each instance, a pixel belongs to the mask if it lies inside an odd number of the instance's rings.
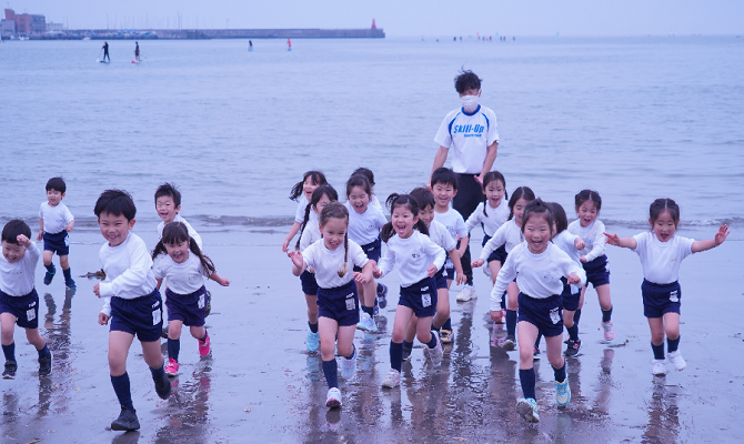
{"label": "laughing pigtailed girl running at centre, right of the front braided girl", "polygon": [[442,362],[442,343],[436,332],[431,331],[432,316],[436,307],[436,282],[432,279],[444,265],[444,250],[426,234],[426,225],[419,219],[419,202],[408,194],[391,194],[388,204],[392,221],[382,228],[382,240],[388,244],[385,255],[375,268],[374,276],[382,278],[398,265],[401,280],[401,296],[398,301],[393,335],[390,341],[390,372],[382,386],[400,385],[405,331],[415,314],[419,317],[419,341],[429,347],[434,365]]}

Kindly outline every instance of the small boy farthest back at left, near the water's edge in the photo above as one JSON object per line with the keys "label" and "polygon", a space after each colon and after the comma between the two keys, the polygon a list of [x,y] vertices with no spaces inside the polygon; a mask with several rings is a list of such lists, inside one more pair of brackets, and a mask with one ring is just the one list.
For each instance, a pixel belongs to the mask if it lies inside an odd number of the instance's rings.
{"label": "small boy farthest back at left, near the water's edge", "polygon": [[62,203],[67,184],[62,178],[51,178],[47,182],[47,202],[39,209],[39,235],[37,242],[43,239],[44,255],[43,262],[47,269],[44,284],[49,285],[54,279],[54,265],[52,256],[57,253],[60,256],[60,268],[64,274],[64,286],[74,291],[77,289],[70,272],[68,255],[70,254],[69,232],[74,226],[74,218],[67,205]]}

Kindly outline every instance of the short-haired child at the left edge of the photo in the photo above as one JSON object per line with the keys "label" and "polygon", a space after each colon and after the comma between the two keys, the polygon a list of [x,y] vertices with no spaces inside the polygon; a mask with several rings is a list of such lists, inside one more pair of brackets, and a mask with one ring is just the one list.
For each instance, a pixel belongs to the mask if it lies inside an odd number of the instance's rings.
{"label": "short-haired child at the left edge of the photo", "polygon": [[2,229],[2,259],[0,259],[0,324],[6,369],[2,377],[16,377],[16,323],[26,330],[26,337],[39,352],[39,376],[52,372],[52,354],[47,341],[39,334],[39,294],[33,286],[39,250],[29,239],[31,229],[14,219]]}

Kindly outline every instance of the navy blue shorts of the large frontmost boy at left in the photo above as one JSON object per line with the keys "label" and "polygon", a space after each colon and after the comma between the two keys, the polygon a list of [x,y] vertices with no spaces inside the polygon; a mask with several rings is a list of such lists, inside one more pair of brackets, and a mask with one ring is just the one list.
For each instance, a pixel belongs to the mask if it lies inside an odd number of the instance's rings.
{"label": "navy blue shorts of the large frontmost boy at left", "polygon": [[140,342],[160,341],[163,332],[163,304],[158,289],[135,299],[111,297],[109,331],[127,332]]}

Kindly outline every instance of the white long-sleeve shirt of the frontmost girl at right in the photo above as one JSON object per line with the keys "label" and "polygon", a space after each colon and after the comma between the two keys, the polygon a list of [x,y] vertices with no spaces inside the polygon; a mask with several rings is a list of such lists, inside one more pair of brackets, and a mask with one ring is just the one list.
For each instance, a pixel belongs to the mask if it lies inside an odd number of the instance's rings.
{"label": "white long-sleeve shirt of the frontmost girl at right", "polygon": [[552,243],[545,251],[532,254],[526,243],[521,243],[509,253],[504,266],[499,271],[496,283],[491,291],[491,310],[501,310],[501,295],[510,282],[516,278],[520,291],[530,297],[546,299],[563,292],[561,278],[569,274],[581,278],[580,286],[586,283],[584,269]]}

